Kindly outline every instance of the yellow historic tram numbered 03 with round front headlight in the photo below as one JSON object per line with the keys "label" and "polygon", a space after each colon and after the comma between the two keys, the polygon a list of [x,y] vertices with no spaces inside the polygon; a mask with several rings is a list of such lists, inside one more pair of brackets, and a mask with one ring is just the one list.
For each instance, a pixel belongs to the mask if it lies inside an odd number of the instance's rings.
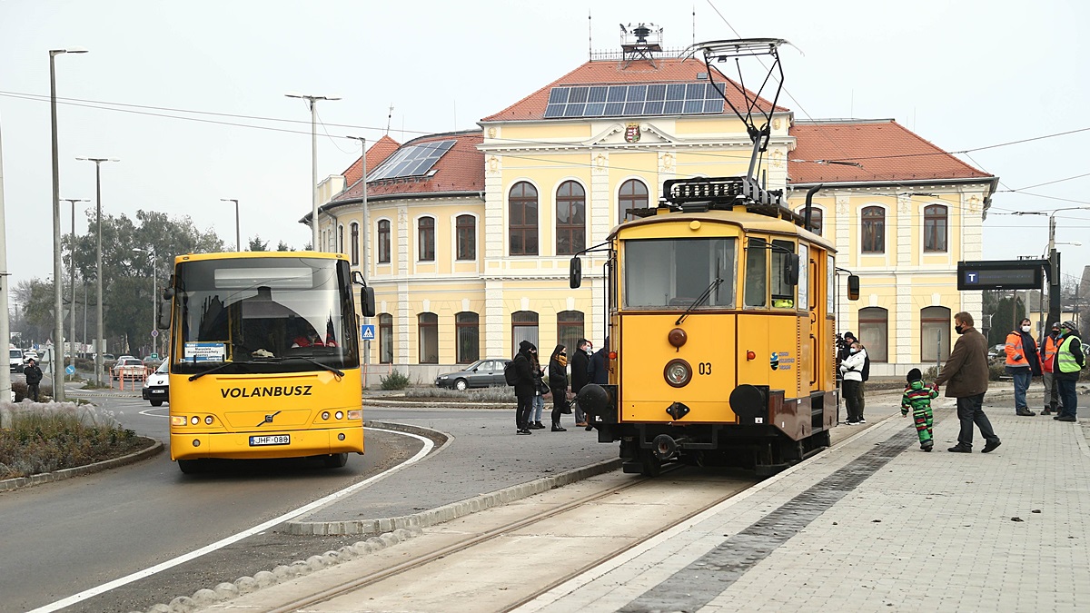
{"label": "yellow historic tram numbered 03 with round front headlight", "polygon": [[[600,443],[620,441],[626,472],[679,460],[771,474],[829,444],[835,249],[778,192],[754,188],[748,177],[666,181],[657,208],[598,245],[609,383],[578,401]],[[581,271],[573,257],[573,288]],[[850,276],[849,298],[858,288]]]}

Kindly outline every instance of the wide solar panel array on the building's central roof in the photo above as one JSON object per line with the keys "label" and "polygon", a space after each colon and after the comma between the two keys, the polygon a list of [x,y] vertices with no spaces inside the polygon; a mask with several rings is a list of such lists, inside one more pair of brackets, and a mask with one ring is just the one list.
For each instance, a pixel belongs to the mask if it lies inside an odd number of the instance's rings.
{"label": "wide solar panel array on the building's central roof", "polygon": [[618,117],[723,112],[722,83],[553,87],[545,117]]}

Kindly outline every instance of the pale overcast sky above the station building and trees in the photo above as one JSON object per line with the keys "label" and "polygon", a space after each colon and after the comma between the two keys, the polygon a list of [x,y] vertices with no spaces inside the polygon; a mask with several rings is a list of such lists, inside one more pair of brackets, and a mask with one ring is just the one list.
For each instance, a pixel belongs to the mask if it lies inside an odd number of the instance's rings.
{"label": "pale overcast sky above the station building and trees", "polygon": [[[731,26],[786,38],[798,50],[782,52],[790,96],[780,104],[799,119],[894,118],[947,151],[1090,127],[1090,9],[1077,1],[0,0],[9,271],[16,281],[52,271],[49,49],[89,50],[57,58],[60,98],[172,109],[59,105],[61,197],[95,196],[94,165],[75,157],[119,158],[102,165],[107,213],[189,215],[232,244],[233,209],[220,199],[239,199],[244,242],[258,235],[301,248],[311,237],[298,223],[311,209],[310,113],[286,93],[341,96],[318,104],[322,121],[351,125],[327,127],[334,136],[377,139],[387,123],[398,142],[472,129],[586,61],[589,10],[596,50],[618,47],[619,22],[658,24],[665,46],[688,46],[693,10],[697,40],[735,38]],[[1090,131],[961,158],[1021,190],[1090,172],[1088,145]],[[323,135],[319,178],[359,153],[354,141]],[[1009,213],[1090,206],[1088,185],[1090,177],[997,194],[984,257],[1043,254],[1047,217]],[[1064,269],[1081,272],[1090,211],[1056,219],[1057,241],[1083,243],[1061,245]],[[68,232],[66,203],[62,220]],[[77,213],[76,231],[86,228]]]}

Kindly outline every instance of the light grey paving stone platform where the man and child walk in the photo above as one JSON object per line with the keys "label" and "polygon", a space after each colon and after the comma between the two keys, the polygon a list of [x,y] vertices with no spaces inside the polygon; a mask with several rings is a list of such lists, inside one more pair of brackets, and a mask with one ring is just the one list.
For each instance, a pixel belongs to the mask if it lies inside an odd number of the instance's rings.
{"label": "light grey paving stone platform where the man and child walk", "polygon": [[524,610],[1090,610],[1090,428],[990,394],[1003,445],[981,454],[978,431],[976,453],[950,454],[954,400],[934,406],[933,453],[895,413]]}

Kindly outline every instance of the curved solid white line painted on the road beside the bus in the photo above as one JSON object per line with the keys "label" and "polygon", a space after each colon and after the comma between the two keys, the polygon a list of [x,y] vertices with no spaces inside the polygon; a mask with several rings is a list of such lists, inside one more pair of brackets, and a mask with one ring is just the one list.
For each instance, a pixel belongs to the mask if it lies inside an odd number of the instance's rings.
{"label": "curved solid white line painted on the road beside the bus", "polygon": [[385,479],[386,477],[388,477],[388,476],[397,472],[398,470],[401,470],[402,468],[404,468],[404,467],[407,467],[409,465],[412,465],[412,464],[415,464],[415,462],[420,461],[425,456],[427,456],[428,453],[432,452],[433,447],[435,447],[435,443],[433,443],[431,438],[421,436],[419,434],[412,434],[412,433],[409,433],[409,432],[398,432],[396,430],[385,430],[385,429],[382,429],[382,428],[367,428],[366,430],[373,430],[375,432],[387,432],[387,433],[390,433],[390,434],[401,434],[403,436],[412,436],[413,438],[422,441],[424,443],[424,448],[422,448],[420,452],[417,452],[416,455],[414,455],[413,457],[409,458],[404,462],[399,464],[398,466],[396,466],[396,467],[393,467],[393,468],[391,468],[389,470],[379,472],[378,474],[375,474],[374,477],[365,479],[364,481],[361,481],[359,483],[349,485],[348,488],[344,488],[343,490],[341,490],[339,492],[334,492],[332,494],[329,494],[328,496],[326,496],[324,498],[316,500],[313,503],[310,503],[307,505],[301,506],[301,507],[299,507],[299,508],[296,508],[294,510],[289,510],[288,513],[281,515],[280,517],[276,517],[276,518],[269,519],[268,521],[266,521],[264,524],[259,524],[257,526],[254,526],[253,528],[250,528],[247,530],[243,530],[242,532],[239,532],[238,534],[233,534],[231,537],[227,537],[226,539],[221,539],[219,541],[216,541],[215,543],[205,545],[205,546],[203,546],[203,548],[201,548],[198,550],[191,551],[190,553],[182,554],[182,555],[180,555],[180,556],[173,558],[173,560],[168,560],[167,562],[164,562],[164,563],[160,563],[160,564],[156,564],[155,566],[152,566],[149,568],[145,568],[143,570],[137,570],[137,572],[135,572],[135,573],[133,573],[131,575],[126,575],[124,577],[121,577],[120,579],[114,579],[114,580],[109,581],[107,584],[102,584],[102,585],[100,585],[98,587],[94,587],[94,588],[84,590],[84,591],[82,591],[80,593],[76,593],[76,594],[72,594],[72,596],[70,596],[70,597],[68,597],[65,599],[58,600],[56,602],[51,602],[51,603],[46,604],[44,606],[39,606],[39,608],[31,611],[29,613],[47,613],[49,611],[59,611],[61,609],[64,609],[65,606],[71,606],[72,604],[75,604],[76,602],[80,602],[80,601],[83,601],[83,600],[87,600],[88,598],[93,598],[93,597],[96,597],[96,596],[98,596],[100,593],[108,592],[108,591],[112,590],[113,588],[119,588],[121,586],[131,584],[133,581],[137,581],[140,579],[145,578],[145,577],[150,577],[152,575],[155,575],[157,573],[161,573],[162,570],[166,570],[168,568],[172,568],[174,566],[178,566],[179,564],[184,564],[184,563],[186,563],[186,562],[189,562],[191,560],[195,560],[197,557],[201,557],[202,555],[205,555],[207,553],[211,553],[211,552],[214,552],[214,551],[216,551],[218,549],[222,549],[222,548],[225,548],[225,546],[227,546],[229,544],[239,542],[242,539],[245,539],[245,538],[249,538],[249,537],[253,537],[254,534],[258,534],[258,533],[261,533],[264,530],[268,530],[269,528],[272,528],[274,526],[277,526],[279,524],[283,524],[284,521],[288,521],[290,519],[294,519],[295,517],[299,517],[300,515],[303,515],[305,513],[310,513],[310,512],[312,512],[312,510],[314,510],[314,509],[316,509],[316,508],[318,508],[320,506],[329,504],[329,503],[331,503],[331,502],[334,502],[334,501],[336,501],[338,498],[344,497],[344,496],[347,496],[347,495],[355,492],[356,490],[360,490],[360,489],[362,489],[362,488],[364,488],[366,485],[370,485],[370,484],[374,483],[375,481],[378,481],[380,479]]}

